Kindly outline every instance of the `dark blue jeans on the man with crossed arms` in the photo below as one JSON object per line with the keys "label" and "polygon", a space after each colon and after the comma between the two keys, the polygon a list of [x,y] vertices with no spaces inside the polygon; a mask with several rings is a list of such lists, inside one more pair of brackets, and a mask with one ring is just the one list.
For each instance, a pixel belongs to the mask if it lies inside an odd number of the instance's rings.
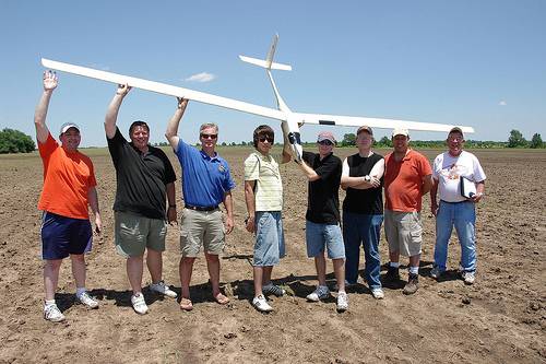
{"label": "dark blue jeans on the man with crossed arms", "polygon": [[366,258],[366,282],[370,290],[380,289],[379,238],[383,215],[367,215],[343,211],[343,240],[345,242],[345,277],[348,283],[358,280],[360,242]]}

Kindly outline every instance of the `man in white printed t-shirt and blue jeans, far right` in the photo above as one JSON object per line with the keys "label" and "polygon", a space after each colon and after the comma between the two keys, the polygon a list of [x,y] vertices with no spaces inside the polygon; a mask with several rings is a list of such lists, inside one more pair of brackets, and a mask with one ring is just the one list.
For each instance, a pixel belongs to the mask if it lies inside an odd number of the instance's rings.
{"label": "man in white printed t-shirt and blue jeans, far right", "polygon": [[[435,185],[430,190],[430,210],[436,216],[435,265],[430,277],[439,279],[446,271],[448,260],[448,243],[455,226],[461,243],[461,274],[466,284],[475,280],[476,248],[474,224],[476,212],[474,203],[484,196],[487,178],[477,157],[463,151],[464,136],[461,128],[453,128],[448,134],[449,151],[439,154],[432,165]],[[463,197],[462,178],[473,183],[476,192]],[[437,195],[440,202],[437,202]]]}

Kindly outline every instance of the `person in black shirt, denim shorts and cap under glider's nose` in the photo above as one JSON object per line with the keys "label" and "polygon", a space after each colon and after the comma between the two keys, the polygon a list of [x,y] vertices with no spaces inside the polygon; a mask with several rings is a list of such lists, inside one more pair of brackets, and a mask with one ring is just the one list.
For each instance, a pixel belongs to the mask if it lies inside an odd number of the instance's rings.
{"label": "person in black shirt, denim shorts and cap under glider's nose", "polygon": [[335,279],[337,281],[337,310],[348,307],[345,293],[345,246],[340,226],[340,181],[342,162],[332,151],[335,146],[334,134],[322,131],[317,139],[319,153],[304,151],[301,171],[309,180],[309,198],[306,214],[307,255],[314,258],[314,267],[319,286],[307,296],[311,302],[318,302],[331,296],[327,286],[328,257],[332,259]]}

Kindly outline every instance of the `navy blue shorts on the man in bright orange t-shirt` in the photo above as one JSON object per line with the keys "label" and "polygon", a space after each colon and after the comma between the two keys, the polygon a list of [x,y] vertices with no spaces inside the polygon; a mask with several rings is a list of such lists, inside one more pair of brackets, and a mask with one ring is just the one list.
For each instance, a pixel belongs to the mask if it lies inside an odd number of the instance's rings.
{"label": "navy blue shorts on the man in bright orange t-shirt", "polygon": [[91,251],[93,231],[88,220],[61,216],[44,211],[41,215],[41,259],[57,260]]}

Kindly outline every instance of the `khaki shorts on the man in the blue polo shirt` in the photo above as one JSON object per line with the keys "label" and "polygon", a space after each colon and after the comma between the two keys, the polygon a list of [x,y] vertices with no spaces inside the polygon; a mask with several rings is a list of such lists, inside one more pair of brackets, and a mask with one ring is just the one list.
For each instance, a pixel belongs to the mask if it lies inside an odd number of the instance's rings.
{"label": "khaki shorts on the man in the blue polo shirt", "polygon": [[224,215],[219,208],[213,211],[182,210],[180,222],[180,250],[182,256],[195,258],[201,250],[221,255],[225,247]]}

